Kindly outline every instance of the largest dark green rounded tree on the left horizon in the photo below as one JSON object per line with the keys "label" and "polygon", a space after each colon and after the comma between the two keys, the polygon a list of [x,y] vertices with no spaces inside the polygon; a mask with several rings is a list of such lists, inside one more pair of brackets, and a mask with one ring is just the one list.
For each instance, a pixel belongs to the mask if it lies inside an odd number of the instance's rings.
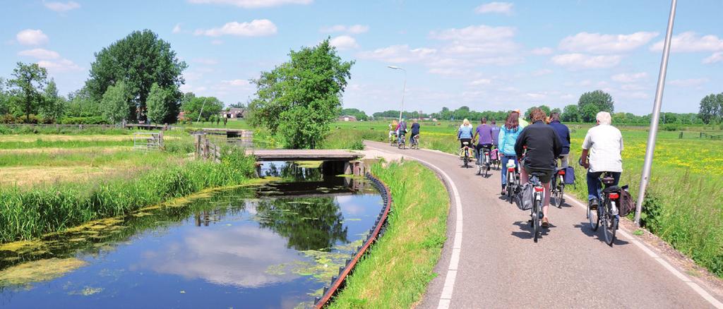
{"label": "largest dark green rounded tree on the left horizon", "polygon": [[124,82],[130,97],[128,119],[143,120],[137,110],[145,110],[146,101],[153,84],[164,90],[177,93],[171,95],[164,114],[174,117],[164,118],[174,121],[178,113],[178,101],[181,93],[178,88],[183,84],[181,75],[187,65],[176,57],[171,44],[158,38],[150,30],[134,31],[127,37],[95,53],[95,62],[90,65],[90,79],[85,86],[93,100],[100,101],[108,87],[116,82]]}

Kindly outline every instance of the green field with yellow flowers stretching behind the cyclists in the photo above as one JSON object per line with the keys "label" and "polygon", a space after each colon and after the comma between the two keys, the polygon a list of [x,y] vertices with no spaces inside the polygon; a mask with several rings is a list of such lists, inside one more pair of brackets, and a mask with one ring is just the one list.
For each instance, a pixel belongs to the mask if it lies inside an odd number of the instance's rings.
{"label": "green field with yellow flowers stretching behind the cyclists", "polygon": [[[615,120],[613,120],[615,121]],[[381,121],[338,122],[333,126],[340,148],[356,144],[355,139],[386,142],[388,123]],[[420,144],[442,152],[458,151],[456,131],[460,123],[422,122]],[[613,123],[615,124],[615,123]],[[589,125],[571,125],[570,162],[577,162]],[[623,176],[637,197],[648,131],[644,127],[622,127]],[[719,277],[723,277],[723,141],[700,139],[699,131],[714,128],[696,127],[695,131],[659,131],[651,181],[643,209],[643,224],[677,250],[693,258]],[[331,138],[330,140],[335,140]],[[569,193],[586,199],[585,171],[576,167],[578,185]]]}

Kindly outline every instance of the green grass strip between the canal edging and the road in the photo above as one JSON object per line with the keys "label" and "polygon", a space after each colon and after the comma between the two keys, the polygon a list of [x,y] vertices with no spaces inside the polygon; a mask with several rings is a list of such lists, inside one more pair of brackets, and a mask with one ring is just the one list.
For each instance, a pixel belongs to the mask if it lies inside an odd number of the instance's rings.
{"label": "green grass strip between the canal edging and the road", "polygon": [[449,209],[445,186],[417,162],[377,163],[372,173],[392,191],[389,227],[330,308],[410,308],[436,276]]}

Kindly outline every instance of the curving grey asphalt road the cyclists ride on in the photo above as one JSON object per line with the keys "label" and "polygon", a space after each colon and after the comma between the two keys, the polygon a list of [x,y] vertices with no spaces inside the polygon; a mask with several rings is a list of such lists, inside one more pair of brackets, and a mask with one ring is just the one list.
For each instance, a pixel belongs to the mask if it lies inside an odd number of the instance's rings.
{"label": "curving grey asphalt road the cyclists ride on", "polygon": [[533,243],[529,212],[500,198],[499,171],[483,178],[450,154],[366,144],[434,165],[458,192],[461,208],[449,190],[448,240],[418,308],[723,308],[723,295],[676,275],[633,237],[618,233],[609,247],[572,201],[550,207],[549,230]]}

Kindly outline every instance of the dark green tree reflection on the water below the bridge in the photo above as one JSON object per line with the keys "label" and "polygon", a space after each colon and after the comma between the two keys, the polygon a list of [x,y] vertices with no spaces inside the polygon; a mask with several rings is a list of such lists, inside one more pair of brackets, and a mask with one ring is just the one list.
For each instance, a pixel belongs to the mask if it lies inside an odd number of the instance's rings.
{"label": "dark green tree reflection on the water below the bridge", "polygon": [[333,197],[258,201],[261,227],[288,238],[287,247],[299,251],[331,248],[348,243],[343,215]]}

